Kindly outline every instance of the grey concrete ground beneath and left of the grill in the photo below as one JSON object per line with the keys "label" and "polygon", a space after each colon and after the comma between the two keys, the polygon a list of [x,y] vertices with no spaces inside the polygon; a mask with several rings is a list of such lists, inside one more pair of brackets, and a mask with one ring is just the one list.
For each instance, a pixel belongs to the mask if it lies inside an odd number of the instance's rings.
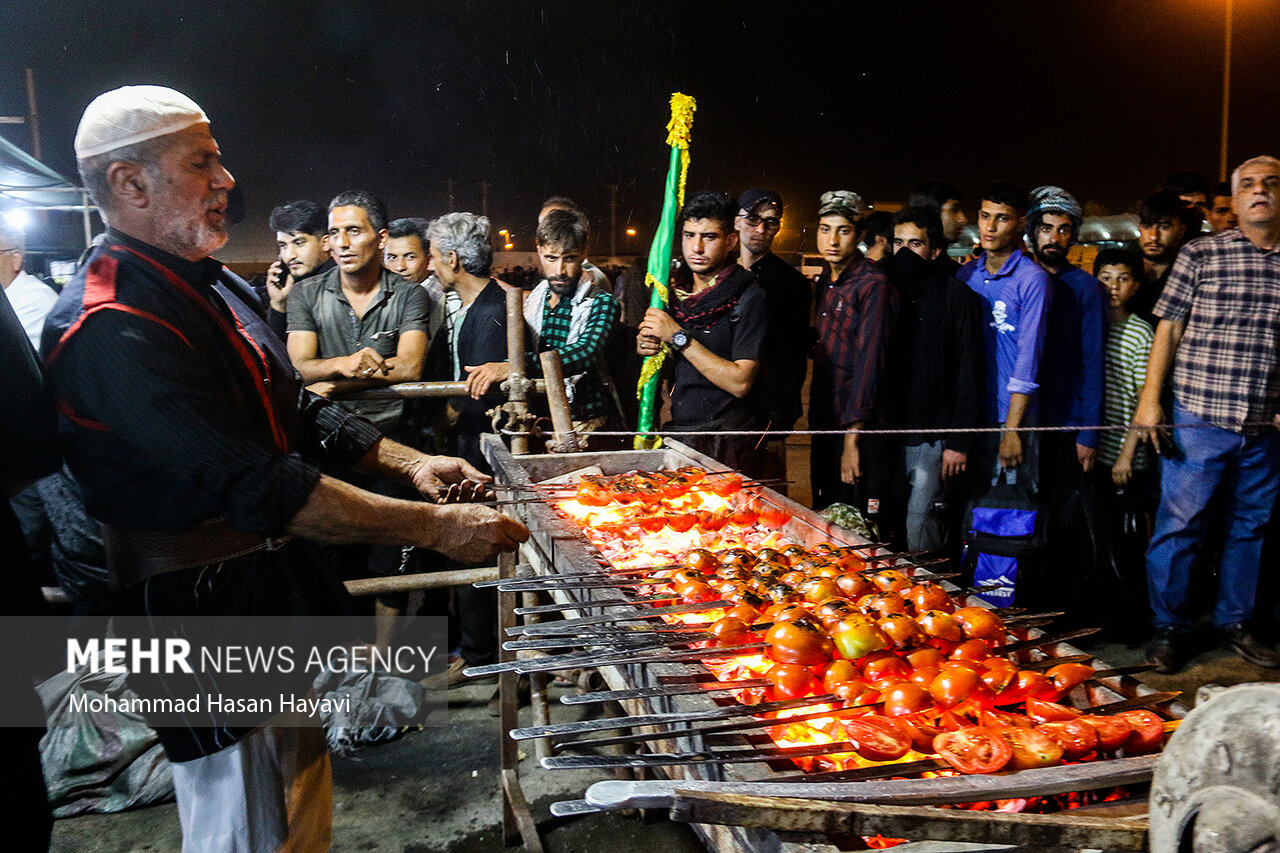
{"label": "grey concrete ground beneath and left of the grill", "polygon": [[[554,720],[581,719],[554,689]],[[500,853],[502,800],[498,790],[498,720],[489,716],[493,684],[449,693],[448,721],[399,740],[370,747],[333,763],[333,849],[361,853]],[[521,724],[530,725],[529,708]],[[695,853],[704,848],[686,825],[643,824],[621,815],[559,821],[550,803],[580,799],[602,779],[599,771],[545,771],[532,757],[521,761],[525,795],[532,803],[548,853]],[[88,815],[54,825],[55,853],[170,853],[182,848],[173,803],[115,815]]]}

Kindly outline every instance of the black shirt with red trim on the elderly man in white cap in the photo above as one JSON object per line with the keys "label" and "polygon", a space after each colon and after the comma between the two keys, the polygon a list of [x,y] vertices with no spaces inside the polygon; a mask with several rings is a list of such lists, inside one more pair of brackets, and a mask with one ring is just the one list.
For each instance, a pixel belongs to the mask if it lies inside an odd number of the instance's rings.
{"label": "black shirt with red trim on the elderly man in white cap", "polygon": [[347,467],[378,430],[307,392],[219,261],[116,231],[45,327],[63,451],[93,516],[178,530],[224,516],[280,535],[320,467]]}

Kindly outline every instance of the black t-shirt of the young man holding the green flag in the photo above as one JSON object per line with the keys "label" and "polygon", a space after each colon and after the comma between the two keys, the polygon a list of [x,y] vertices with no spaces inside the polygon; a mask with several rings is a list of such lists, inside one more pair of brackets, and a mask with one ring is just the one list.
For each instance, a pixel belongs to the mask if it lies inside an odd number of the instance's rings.
{"label": "black t-shirt of the young man holding the green flag", "polygon": [[[730,286],[733,283],[733,278],[740,275],[751,275],[751,273],[740,268],[716,287]],[[768,329],[764,291],[753,280],[739,296],[731,310],[718,314],[705,324],[686,321],[685,329],[689,332],[690,339],[698,341],[722,359],[759,361]],[[739,400],[699,373],[698,368],[691,365],[687,359],[676,353],[669,425],[689,428],[713,421],[758,425],[758,392],[759,380],[746,397]]]}

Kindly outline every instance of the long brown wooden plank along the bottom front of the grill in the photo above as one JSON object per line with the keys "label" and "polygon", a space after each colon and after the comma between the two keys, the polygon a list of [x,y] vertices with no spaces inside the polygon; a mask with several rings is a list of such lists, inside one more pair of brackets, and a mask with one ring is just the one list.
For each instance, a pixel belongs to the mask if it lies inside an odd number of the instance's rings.
{"label": "long brown wooden plank along the bottom front of the grill", "polygon": [[883,835],[915,841],[1018,844],[1032,848],[1146,850],[1146,822],[1056,815],[1006,815],[951,808],[867,806],[677,790],[671,818],[685,824],[753,826],[829,836]]}

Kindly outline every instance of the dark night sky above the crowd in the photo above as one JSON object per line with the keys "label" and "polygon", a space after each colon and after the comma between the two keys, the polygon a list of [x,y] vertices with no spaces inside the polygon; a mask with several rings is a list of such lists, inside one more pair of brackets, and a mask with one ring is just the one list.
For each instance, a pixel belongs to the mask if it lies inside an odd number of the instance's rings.
{"label": "dark night sky above the crowd", "polygon": [[[1224,0],[1059,3],[106,3],[4,0],[0,114],[36,72],[44,159],[74,175],[84,105],[125,83],[200,102],[244,192],[221,256],[265,259],[287,200],[362,187],[393,216],[480,209],[529,247],[572,196],[607,247],[652,233],[667,99],[698,99],[690,187],[901,201],[923,178],[1060,183],[1111,213],[1174,170],[1216,178]],[[1235,0],[1233,165],[1280,154],[1280,14]],[[27,146],[20,126],[0,126]],[[38,242],[38,241],[37,241]],[[791,248],[791,246],[783,246]]]}

